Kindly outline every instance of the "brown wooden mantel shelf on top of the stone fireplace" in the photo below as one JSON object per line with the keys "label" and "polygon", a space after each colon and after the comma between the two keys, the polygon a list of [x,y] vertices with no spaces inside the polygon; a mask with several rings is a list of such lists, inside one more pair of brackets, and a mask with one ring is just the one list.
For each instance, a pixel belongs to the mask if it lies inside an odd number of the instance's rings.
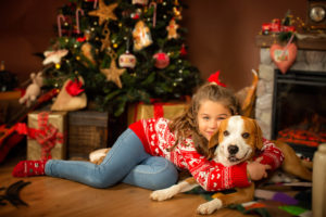
{"label": "brown wooden mantel shelf on top of the stone fireplace", "polygon": [[[296,44],[301,50],[324,50],[326,51],[326,35],[304,35],[297,34],[298,40]],[[277,41],[277,35],[258,35],[255,37],[255,44],[261,48],[269,48]]]}

